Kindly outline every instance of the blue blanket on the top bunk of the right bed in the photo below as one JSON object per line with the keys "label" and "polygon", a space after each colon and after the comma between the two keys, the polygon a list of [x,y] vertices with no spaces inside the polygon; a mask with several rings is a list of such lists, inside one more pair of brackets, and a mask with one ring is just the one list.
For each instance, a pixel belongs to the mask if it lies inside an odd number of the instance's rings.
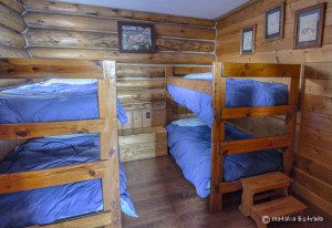
{"label": "blue blanket on the top bunk of the right bed", "polygon": [[[188,107],[211,127],[214,121],[211,95],[175,85],[167,85],[167,90],[175,102]],[[287,104],[287,102],[288,87],[284,84],[227,79],[227,107],[276,106]]]}

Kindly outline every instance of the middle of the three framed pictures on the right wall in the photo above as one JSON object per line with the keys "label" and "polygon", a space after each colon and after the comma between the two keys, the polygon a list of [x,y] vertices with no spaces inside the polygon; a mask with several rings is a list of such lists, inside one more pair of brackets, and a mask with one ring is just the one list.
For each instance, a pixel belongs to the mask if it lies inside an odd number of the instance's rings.
{"label": "middle of the three framed pictures on the right wall", "polygon": [[284,2],[266,11],[264,39],[278,40],[283,37]]}

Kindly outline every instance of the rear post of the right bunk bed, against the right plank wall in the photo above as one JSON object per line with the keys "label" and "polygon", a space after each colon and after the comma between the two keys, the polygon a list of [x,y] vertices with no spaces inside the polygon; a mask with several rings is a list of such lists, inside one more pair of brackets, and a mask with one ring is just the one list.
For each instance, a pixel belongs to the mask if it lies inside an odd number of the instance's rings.
{"label": "rear post of the right bunk bed, against the right plank wall", "polygon": [[[304,65],[299,69],[299,75],[292,76],[290,79],[290,84],[288,89],[288,104],[297,105],[299,99],[299,84],[300,77],[304,75]],[[286,115],[286,134],[292,135],[292,145],[287,147],[282,154],[283,160],[283,173],[290,175],[292,172],[293,156],[294,156],[294,142],[297,134],[297,112],[298,108]]]}

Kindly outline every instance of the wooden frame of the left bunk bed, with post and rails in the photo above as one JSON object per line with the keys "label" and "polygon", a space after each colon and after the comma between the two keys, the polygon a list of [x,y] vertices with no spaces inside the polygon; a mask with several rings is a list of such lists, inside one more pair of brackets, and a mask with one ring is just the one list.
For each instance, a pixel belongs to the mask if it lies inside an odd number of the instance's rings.
{"label": "wooden frame of the left bunk bed, with post and rails", "polygon": [[0,139],[100,133],[98,162],[0,175],[0,194],[102,179],[103,211],[40,227],[121,227],[115,62],[0,59],[0,79],[96,79],[98,118],[0,124]]}

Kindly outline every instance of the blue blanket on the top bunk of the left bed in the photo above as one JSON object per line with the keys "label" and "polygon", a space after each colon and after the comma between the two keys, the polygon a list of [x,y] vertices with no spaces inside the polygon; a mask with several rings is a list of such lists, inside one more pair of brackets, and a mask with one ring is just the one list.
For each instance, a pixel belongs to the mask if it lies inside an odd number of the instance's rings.
{"label": "blue blanket on the top bunk of the left bed", "polygon": [[[125,111],[117,102],[117,116],[125,124]],[[97,85],[37,83],[0,92],[0,123],[75,121],[98,117]]]}

